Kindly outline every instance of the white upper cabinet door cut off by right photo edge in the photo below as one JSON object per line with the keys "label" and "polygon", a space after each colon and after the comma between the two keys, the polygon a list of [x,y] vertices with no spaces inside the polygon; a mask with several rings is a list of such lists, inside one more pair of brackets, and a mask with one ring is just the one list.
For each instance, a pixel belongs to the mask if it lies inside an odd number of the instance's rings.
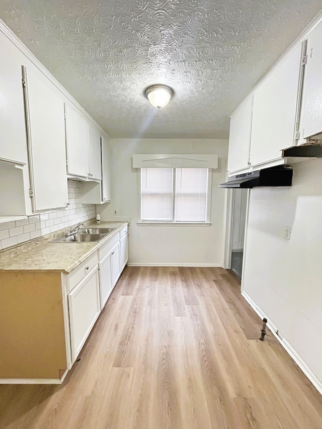
{"label": "white upper cabinet door cut off by right photo edge", "polygon": [[303,82],[300,138],[322,132],[322,22],[308,35],[307,63]]}

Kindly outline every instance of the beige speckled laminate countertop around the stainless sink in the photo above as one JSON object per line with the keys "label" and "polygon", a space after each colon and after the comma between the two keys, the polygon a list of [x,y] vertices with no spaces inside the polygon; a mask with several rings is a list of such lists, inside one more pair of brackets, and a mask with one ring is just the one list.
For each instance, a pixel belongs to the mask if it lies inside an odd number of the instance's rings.
{"label": "beige speckled laminate countertop around the stainless sink", "polygon": [[[117,228],[112,234],[100,242],[94,243],[51,243],[49,241],[63,235],[64,229],[48,234],[33,241],[21,244],[13,249],[0,253],[0,271],[61,271],[70,273],[94,253],[102,244],[106,243],[128,222],[101,222],[99,225],[92,221],[86,226]],[[68,229],[68,228],[65,228]]]}

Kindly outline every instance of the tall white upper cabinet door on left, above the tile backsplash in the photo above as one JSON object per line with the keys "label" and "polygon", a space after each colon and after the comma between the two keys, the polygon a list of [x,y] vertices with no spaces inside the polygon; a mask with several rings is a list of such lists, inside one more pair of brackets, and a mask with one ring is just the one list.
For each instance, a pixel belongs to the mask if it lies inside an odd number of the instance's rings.
{"label": "tall white upper cabinet door on left, above the tile backsplash", "polygon": [[[64,103],[31,68],[27,69],[34,210],[68,203]],[[28,114],[28,112],[26,112]]]}

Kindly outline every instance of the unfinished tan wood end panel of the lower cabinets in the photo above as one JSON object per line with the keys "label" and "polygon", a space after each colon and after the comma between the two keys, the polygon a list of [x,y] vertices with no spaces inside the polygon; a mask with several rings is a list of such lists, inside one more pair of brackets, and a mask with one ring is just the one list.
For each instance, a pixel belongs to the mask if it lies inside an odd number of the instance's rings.
{"label": "unfinished tan wood end panel of the lower cabinets", "polygon": [[67,369],[61,275],[0,273],[0,379],[59,379]]}

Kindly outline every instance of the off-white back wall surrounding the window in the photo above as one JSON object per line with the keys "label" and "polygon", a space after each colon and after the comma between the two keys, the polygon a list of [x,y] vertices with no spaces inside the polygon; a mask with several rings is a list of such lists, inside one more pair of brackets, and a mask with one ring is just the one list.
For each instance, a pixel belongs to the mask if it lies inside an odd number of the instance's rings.
{"label": "off-white back wall surrounding the window", "polygon": [[[112,139],[112,203],[97,206],[102,220],[131,218],[129,264],[221,266],[224,253],[224,207],[228,141],[221,139]],[[133,153],[218,154],[212,174],[211,226],[147,226],[139,220],[138,175],[132,168]]]}

